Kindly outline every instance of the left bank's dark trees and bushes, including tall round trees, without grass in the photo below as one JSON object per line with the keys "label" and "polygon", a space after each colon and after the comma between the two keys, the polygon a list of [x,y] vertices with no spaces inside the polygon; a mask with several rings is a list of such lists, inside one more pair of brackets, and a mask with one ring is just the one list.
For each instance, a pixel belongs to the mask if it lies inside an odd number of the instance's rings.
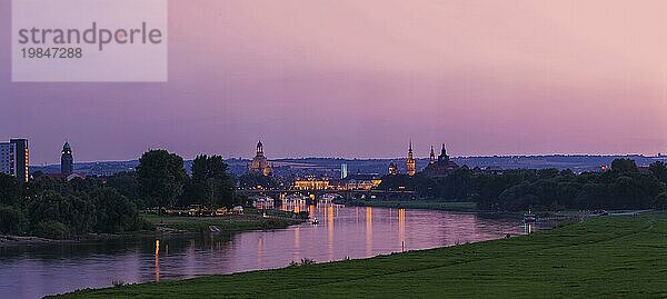
{"label": "left bank's dark trees and bushes, including tall round trees, without grass", "polygon": [[139,217],[146,208],[239,202],[235,180],[219,156],[198,156],[192,175],[183,159],[150,150],[137,171],[67,181],[41,172],[28,183],[0,173],[0,233],[69,238],[90,232],[152,229]]}

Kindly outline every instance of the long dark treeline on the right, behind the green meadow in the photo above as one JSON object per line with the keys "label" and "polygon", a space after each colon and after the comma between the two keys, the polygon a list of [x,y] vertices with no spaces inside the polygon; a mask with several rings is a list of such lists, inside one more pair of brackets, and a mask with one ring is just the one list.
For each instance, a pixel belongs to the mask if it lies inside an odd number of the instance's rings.
{"label": "long dark treeline on the right, behind the green meadow", "polygon": [[420,198],[475,201],[487,210],[667,209],[667,166],[657,161],[639,171],[633,160],[616,159],[604,172],[571,170],[457,169],[446,177],[386,176],[380,189],[417,191]]}

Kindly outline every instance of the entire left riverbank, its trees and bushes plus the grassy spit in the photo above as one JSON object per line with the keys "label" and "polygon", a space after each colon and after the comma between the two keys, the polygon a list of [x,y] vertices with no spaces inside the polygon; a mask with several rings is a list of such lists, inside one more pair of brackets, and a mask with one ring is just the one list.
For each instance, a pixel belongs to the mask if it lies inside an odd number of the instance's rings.
{"label": "entire left riverbank, its trees and bushes plus the grassy spit", "polygon": [[23,183],[0,173],[0,246],[199,231],[210,226],[220,230],[272,229],[301,221],[293,213],[263,217],[252,209],[243,216],[206,218],[140,213],[192,205],[212,210],[248,206],[236,195],[235,180],[220,156],[198,156],[190,175],[183,159],[166,150],[145,152],[133,172],[71,180],[31,175]]}

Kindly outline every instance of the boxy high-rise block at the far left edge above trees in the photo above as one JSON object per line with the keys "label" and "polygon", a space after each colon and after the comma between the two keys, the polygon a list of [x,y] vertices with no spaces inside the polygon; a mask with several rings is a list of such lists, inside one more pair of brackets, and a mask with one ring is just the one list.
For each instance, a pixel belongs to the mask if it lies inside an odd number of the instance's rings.
{"label": "boxy high-rise block at the far left edge above trees", "polygon": [[28,139],[11,139],[9,142],[0,143],[0,172],[28,182],[30,178],[29,162]]}

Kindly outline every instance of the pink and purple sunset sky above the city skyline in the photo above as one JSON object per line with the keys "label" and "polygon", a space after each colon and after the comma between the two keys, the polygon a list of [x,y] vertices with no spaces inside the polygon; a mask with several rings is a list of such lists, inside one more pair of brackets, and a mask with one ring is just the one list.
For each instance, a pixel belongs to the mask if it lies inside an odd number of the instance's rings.
{"label": "pink and purple sunset sky above the city skyline", "polygon": [[31,162],[667,152],[665,1],[169,1],[167,83],[12,83]]}

